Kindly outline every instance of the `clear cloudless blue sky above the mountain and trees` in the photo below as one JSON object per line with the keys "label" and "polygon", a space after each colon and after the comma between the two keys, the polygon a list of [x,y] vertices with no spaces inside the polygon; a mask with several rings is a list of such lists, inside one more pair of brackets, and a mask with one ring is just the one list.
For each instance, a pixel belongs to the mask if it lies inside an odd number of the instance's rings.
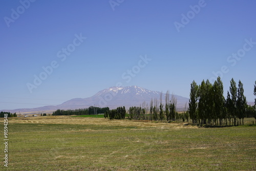
{"label": "clear cloudless blue sky above the mountain and trees", "polygon": [[213,72],[225,97],[233,77],[254,101],[255,8],[254,0],[1,1],[0,110],[86,98],[118,82],[189,97],[190,83]]}

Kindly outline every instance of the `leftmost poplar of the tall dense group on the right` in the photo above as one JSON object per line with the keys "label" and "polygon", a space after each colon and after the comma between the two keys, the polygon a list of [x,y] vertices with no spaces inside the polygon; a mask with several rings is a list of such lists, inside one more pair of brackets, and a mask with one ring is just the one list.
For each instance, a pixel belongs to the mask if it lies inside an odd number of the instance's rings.
{"label": "leftmost poplar of the tall dense group on the right", "polygon": [[193,123],[197,123],[197,106],[198,106],[198,85],[195,80],[190,84],[190,94],[188,103],[188,113]]}

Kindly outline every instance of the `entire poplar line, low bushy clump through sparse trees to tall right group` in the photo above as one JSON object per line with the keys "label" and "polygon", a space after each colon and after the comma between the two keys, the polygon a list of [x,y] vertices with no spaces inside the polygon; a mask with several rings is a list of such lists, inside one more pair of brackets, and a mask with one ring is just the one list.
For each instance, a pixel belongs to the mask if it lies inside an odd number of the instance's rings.
{"label": "entire poplar line, low bushy clump through sparse trees to tall right group", "polygon": [[[256,98],[255,105],[247,104],[241,80],[239,80],[237,87],[236,81],[231,79],[227,98],[224,97],[223,83],[220,77],[214,83],[210,83],[207,79],[198,85],[193,81],[190,87],[188,109],[185,105],[184,112],[177,112],[177,98],[174,94],[169,97],[170,94],[167,91],[164,96],[165,102],[162,100],[163,94],[161,93],[160,99],[151,99],[149,106],[144,102],[140,106],[130,107],[126,117],[124,111],[120,117],[121,114],[117,110],[107,112],[104,116],[109,119],[127,118],[152,121],[175,121],[179,119],[188,122],[191,119],[194,124],[221,126],[244,124],[245,117],[254,117],[256,120]],[[256,96],[256,81],[254,95]],[[111,117],[110,113],[112,114]]]}

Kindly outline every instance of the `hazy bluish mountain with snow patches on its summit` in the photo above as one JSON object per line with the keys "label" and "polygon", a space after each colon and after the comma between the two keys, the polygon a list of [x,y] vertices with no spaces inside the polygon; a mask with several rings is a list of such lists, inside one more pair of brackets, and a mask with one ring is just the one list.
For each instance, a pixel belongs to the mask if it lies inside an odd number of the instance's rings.
{"label": "hazy bluish mountain with snow patches on its summit", "polygon": [[[59,105],[47,105],[39,108],[32,109],[16,109],[16,110],[3,110],[8,112],[20,112],[20,113],[49,113],[57,109],[79,109],[79,108],[89,108],[89,106],[98,106],[100,108],[108,106],[110,109],[115,109],[118,106],[125,106],[129,109],[130,106],[140,106],[143,102],[150,106],[151,99],[160,99],[161,92],[151,91],[147,89],[140,88],[138,86],[129,87],[111,87],[109,89],[104,89],[88,98],[74,98],[63,102]],[[169,95],[171,98],[171,95]],[[177,99],[177,108],[183,110],[185,104],[188,106],[188,98],[175,95]],[[162,101],[165,103],[165,93],[162,94]]]}

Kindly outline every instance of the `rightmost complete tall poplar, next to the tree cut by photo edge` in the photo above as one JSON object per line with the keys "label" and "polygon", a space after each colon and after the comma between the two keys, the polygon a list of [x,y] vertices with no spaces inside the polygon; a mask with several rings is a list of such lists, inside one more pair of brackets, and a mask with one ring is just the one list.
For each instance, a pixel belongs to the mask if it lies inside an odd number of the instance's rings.
{"label": "rightmost complete tall poplar, next to the tree cut by photo edge", "polygon": [[240,121],[240,125],[241,125],[241,119],[244,124],[245,112],[247,109],[247,101],[246,101],[246,97],[244,96],[244,88],[241,80],[239,80],[239,83],[238,83],[237,109],[238,109],[238,118]]}

